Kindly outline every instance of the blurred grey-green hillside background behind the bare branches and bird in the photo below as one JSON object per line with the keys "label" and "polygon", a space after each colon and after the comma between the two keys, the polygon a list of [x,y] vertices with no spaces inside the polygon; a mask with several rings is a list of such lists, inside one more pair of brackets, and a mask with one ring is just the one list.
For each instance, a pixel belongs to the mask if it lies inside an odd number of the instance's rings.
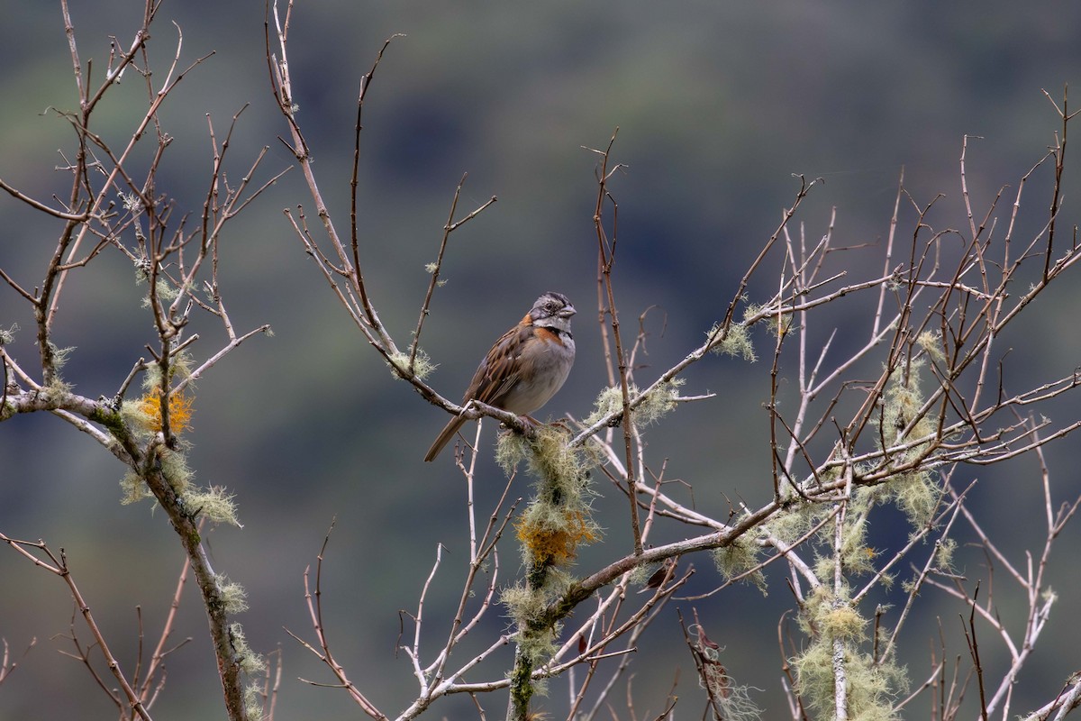
{"label": "blurred grey-green hillside background behind the bare branches and bird", "polygon": [[[69,150],[72,134],[55,110],[72,109],[77,101],[58,3],[6,0],[0,6],[0,176],[36,198],[63,198],[69,179],[55,170],[63,164],[57,149]],[[141,3],[131,0],[72,3],[80,55],[93,58],[92,83],[104,72],[109,37],[126,46],[141,13]],[[657,306],[649,321],[649,368],[639,371],[648,380],[699,344],[723,316],[748,263],[791,203],[798,189],[791,174],[825,181],[797,218],[810,242],[825,232],[836,208],[835,243],[870,244],[840,261],[854,278],[881,265],[877,252],[903,166],[920,204],[945,193],[933,214],[938,228],[967,225],[958,172],[965,134],[980,136],[970,141],[967,157],[977,215],[1000,187],[1016,188],[1059,128],[1041,89],[1060,101],[1064,85],[1081,79],[1079,27],[1081,4],[1052,2],[302,0],[291,62],[298,119],[323,197],[346,231],[358,81],[387,37],[405,35],[379,66],[362,139],[362,257],[382,317],[405,343],[428,282],[424,266],[435,259],[454,186],[468,172],[459,214],[493,195],[498,202],[452,236],[443,266],[449,283],[436,295],[424,334],[423,346],[440,366],[431,382],[456,400],[492,341],[540,292],[558,290],[579,310],[578,360],[545,413],[580,417],[605,383],[593,301],[596,156],[582,146],[603,147],[619,128],[614,158],[627,168],[613,182],[619,202],[616,290],[627,328]],[[163,108],[173,143],[158,189],[198,214],[211,169],[208,114],[221,138],[231,116],[248,106],[229,150],[233,182],[263,146],[269,151],[257,178],[289,166],[292,158],[277,139],[285,128],[267,79],[263,3],[166,1],[150,42],[156,84],[175,52],[177,28],[179,67],[214,55],[184,77]],[[142,78],[129,71],[95,116],[97,131],[122,143],[145,97]],[[145,168],[151,149],[148,144],[133,164]],[[1043,172],[1027,186],[1022,233],[1031,236],[1045,221],[1047,177]],[[1063,228],[1077,222],[1070,177],[1068,171]],[[1004,196],[1000,223],[1014,193]],[[468,559],[464,484],[450,454],[432,465],[421,462],[445,418],[393,382],[350,326],[283,218],[282,209],[297,204],[313,217],[294,170],[231,224],[223,242],[223,292],[236,328],[270,323],[276,334],[252,338],[199,383],[189,460],[198,481],[237,494],[243,530],[216,529],[210,546],[217,570],[248,589],[252,609],[241,620],[253,647],[266,653],[280,645],[284,654],[278,718],[360,716],[344,693],[295,680],[331,679],[283,630],[311,636],[302,574],[334,517],[323,574],[328,628],[351,677],[392,713],[412,698],[414,686],[406,658],[395,654],[399,610],[415,611],[440,543],[448,551],[426,607],[429,653],[444,638],[440,624],[459,592]],[[909,223],[911,217],[908,212]],[[53,252],[57,226],[4,196],[0,229],[0,266],[32,288]],[[911,233],[911,225],[905,232]],[[773,292],[778,262],[749,289],[752,301]],[[111,396],[146,353],[143,345],[154,334],[139,306],[142,293],[116,252],[70,276],[56,342],[76,348],[64,375],[79,392]],[[1007,370],[1017,387],[1011,390],[1024,388],[1029,377],[1066,375],[1077,365],[1077,302],[1076,289],[1058,288],[1024,332],[1003,341],[1003,349],[1014,349]],[[856,299],[830,312],[817,342],[836,325],[841,344],[855,347],[866,333],[867,306]],[[0,286],[0,328],[13,323],[22,330],[10,351],[32,369],[32,317],[11,289]],[[192,330],[201,335],[199,359],[224,343],[212,319],[199,319]],[[770,343],[764,336],[759,342]],[[786,370],[792,369],[789,362]],[[681,408],[651,428],[652,464],[659,468],[668,458],[668,477],[692,483],[696,503],[709,512],[725,513],[728,498],[762,502],[770,492],[761,405],[769,364],[711,359],[688,377],[689,393],[720,398]],[[1045,412],[1062,423],[1081,413],[1071,401]],[[491,439],[491,426],[486,432]],[[1063,441],[1049,453],[1056,500],[1081,489],[1073,446]],[[1035,462],[959,472],[980,480],[974,507],[1005,534],[1000,542],[1024,566],[1024,549],[1038,552],[1033,544],[1043,535]],[[17,417],[0,426],[0,530],[67,549],[114,651],[131,665],[134,609],[142,606],[145,633],[156,638],[182,556],[163,513],[147,503],[119,504],[122,473],[112,456],[55,417]],[[502,476],[485,465],[481,481],[478,507],[484,515],[502,490]],[[524,481],[518,482],[516,494],[526,493]],[[628,548],[624,504],[611,489],[600,490],[598,520],[609,535],[583,556],[583,569]],[[889,513],[875,531],[882,547],[905,534]],[[655,540],[682,533],[658,529]],[[1053,697],[1077,668],[1081,636],[1068,609],[1077,607],[1081,587],[1066,557],[1078,540],[1070,529],[1053,558],[1062,602],[1018,679],[1016,712]],[[982,555],[969,559],[970,575],[986,575]],[[693,562],[694,589],[716,585],[708,559]],[[517,563],[508,545],[504,583],[516,577]],[[1020,606],[1006,585],[1001,576],[996,590],[1003,607],[1016,612]],[[960,609],[942,604],[934,592],[922,601],[924,613],[911,627],[919,640],[903,657],[916,683],[929,669],[936,613],[949,638],[960,638]],[[771,576],[764,601],[753,589],[737,588],[679,605],[684,613],[698,606],[710,637],[726,647],[730,672],[762,690],[756,698],[772,709],[766,718],[780,718],[775,625],[790,605],[784,575]],[[677,667],[678,693],[686,699],[679,708],[693,718],[700,692],[675,610],[666,614],[635,658],[640,718],[646,709],[660,710]],[[58,579],[0,550],[0,636],[14,654],[39,639],[0,686],[0,719],[111,718],[85,670],[57,653],[69,650],[62,637],[71,615]],[[222,718],[205,622],[191,588],[181,615],[176,639],[193,640],[170,657],[155,716]],[[477,647],[505,623],[491,614],[476,632]],[[85,642],[78,619],[76,628]],[[1001,675],[1001,644],[988,638],[985,647],[987,663]],[[961,642],[952,653],[963,650]],[[510,663],[508,652],[502,666],[497,658],[470,680],[491,678]],[[550,697],[540,700],[556,710],[555,718],[565,687],[552,682]],[[488,710],[497,717],[502,707],[491,702]],[[476,716],[468,699],[444,702],[433,712]],[[918,705],[909,718],[925,716],[926,707]]]}

